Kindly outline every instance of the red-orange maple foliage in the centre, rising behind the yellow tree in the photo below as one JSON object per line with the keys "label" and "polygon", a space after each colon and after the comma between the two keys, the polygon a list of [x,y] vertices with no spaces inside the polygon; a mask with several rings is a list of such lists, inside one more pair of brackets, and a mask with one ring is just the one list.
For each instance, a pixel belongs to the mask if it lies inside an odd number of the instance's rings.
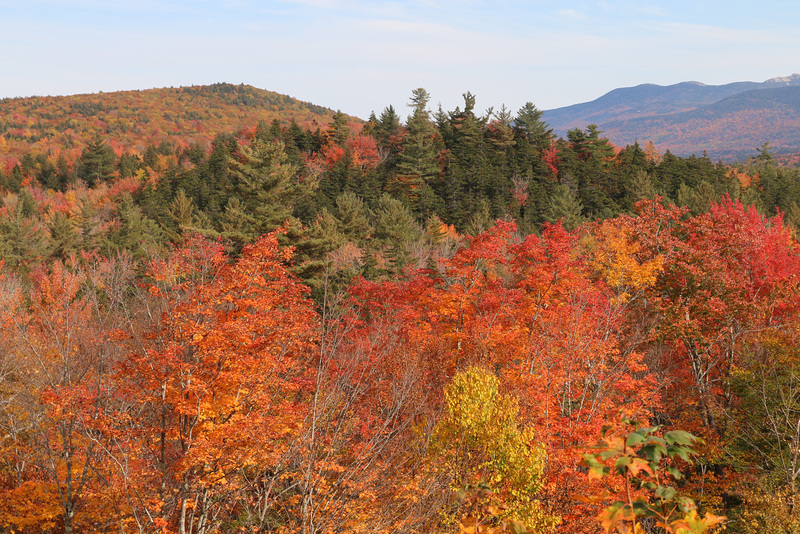
{"label": "red-orange maple foliage in the centre, rising behind the yellow tree", "polygon": [[353,292],[373,323],[397,325],[403,346],[424,362],[426,395],[438,396],[468,366],[496,369],[548,450],[546,500],[565,531],[592,531],[571,499],[589,483],[580,447],[620,406],[646,416],[658,399],[641,356],[619,337],[622,308],[592,280],[576,237],[555,226],[515,243],[514,231],[498,222],[442,260],[436,275],[361,282]]}

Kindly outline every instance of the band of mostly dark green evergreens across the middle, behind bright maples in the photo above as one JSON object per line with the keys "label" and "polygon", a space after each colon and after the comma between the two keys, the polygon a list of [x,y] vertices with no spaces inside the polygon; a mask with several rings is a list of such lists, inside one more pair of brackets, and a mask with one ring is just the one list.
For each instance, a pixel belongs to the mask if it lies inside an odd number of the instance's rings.
{"label": "band of mostly dark green evergreens across the middle, behind bright maples", "polygon": [[798,171],[777,166],[768,145],[732,167],[652,145],[620,149],[594,126],[556,139],[532,104],[478,116],[469,93],[450,112],[430,112],[429,98],[413,92],[405,124],[389,106],[365,125],[341,113],[324,129],[260,122],[208,150],[162,140],[134,153],[96,136],[74,161],[27,153],[0,173],[3,257],[139,254],[141,243],[193,233],[235,253],[289,221],[298,272],[318,285],[326,255],[345,244],[372,277],[418,265],[426,243],[476,235],[498,218],[523,234],[555,221],[573,229],[656,196],[695,215],[727,196],[800,222]]}

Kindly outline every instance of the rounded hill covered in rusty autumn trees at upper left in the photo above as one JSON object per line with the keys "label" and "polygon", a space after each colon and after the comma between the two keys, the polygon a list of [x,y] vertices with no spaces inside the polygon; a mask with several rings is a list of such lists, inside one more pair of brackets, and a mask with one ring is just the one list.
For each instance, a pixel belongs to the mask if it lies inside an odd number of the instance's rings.
{"label": "rounded hill covered in rusty autumn trees at upper left", "polygon": [[334,111],[249,85],[119,91],[0,100],[0,164],[26,153],[80,153],[95,135],[118,151],[141,152],[163,140],[208,147],[219,133],[273,119],[325,127]]}

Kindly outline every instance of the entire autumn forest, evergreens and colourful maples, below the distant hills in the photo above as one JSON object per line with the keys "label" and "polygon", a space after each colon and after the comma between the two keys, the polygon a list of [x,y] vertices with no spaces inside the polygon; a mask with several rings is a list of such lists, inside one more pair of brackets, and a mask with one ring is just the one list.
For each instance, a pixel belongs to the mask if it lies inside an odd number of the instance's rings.
{"label": "entire autumn forest, evergreens and colourful maples, below the distant hills", "polygon": [[800,169],[429,103],[0,135],[0,532],[798,531]]}

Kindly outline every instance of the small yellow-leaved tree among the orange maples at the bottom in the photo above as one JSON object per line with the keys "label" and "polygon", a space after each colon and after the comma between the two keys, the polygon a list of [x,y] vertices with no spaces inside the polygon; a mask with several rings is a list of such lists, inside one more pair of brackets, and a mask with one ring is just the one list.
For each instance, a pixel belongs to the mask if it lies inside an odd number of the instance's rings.
{"label": "small yellow-leaved tree among the orange maples at the bottom", "polygon": [[470,367],[447,386],[445,402],[431,448],[456,497],[445,517],[475,534],[552,531],[559,520],[536,498],[546,453],[532,429],[519,428],[516,398],[500,393],[497,376]]}

